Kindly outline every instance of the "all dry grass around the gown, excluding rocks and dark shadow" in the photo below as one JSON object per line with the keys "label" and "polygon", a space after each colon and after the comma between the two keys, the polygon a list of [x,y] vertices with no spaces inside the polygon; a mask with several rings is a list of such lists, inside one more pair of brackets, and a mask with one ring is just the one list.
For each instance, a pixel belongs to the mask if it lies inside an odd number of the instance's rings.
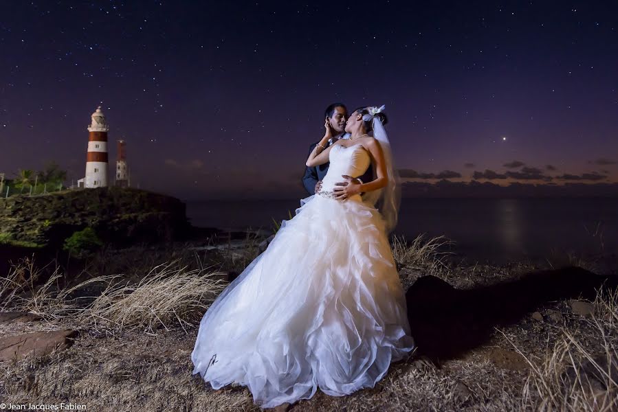
{"label": "all dry grass around the gown, excluding rocks and dark shadow", "polygon": [[[421,235],[409,244],[395,238],[393,255],[404,272],[430,273],[457,287],[529,270],[519,264],[449,267],[444,258],[450,252],[443,247],[450,244],[443,236],[426,240]],[[97,411],[260,411],[245,387],[212,391],[191,375],[198,319],[225,287],[217,279],[221,273],[212,268],[241,271],[259,251],[256,238],[247,235],[247,245],[234,249],[228,244],[208,255],[184,247],[170,253],[132,250],[122,257],[106,252],[87,265],[84,275],[89,279],[74,286],[68,286],[58,266],[43,271],[31,260],[21,261],[0,279],[0,310],[36,312],[47,320],[45,328],[62,324],[82,332],[63,352],[0,363],[0,398],[14,403],[70,401]],[[292,410],[616,410],[612,365],[617,359],[618,295],[599,293],[593,304],[595,317],[568,317],[558,328],[549,321],[524,319],[509,328],[507,341],[496,334],[441,368],[419,360],[394,364],[373,389],[340,398],[318,391]],[[26,328],[41,325],[0,324],[0,335]],[[538,342],[547,334],[554,337],[545,356],[546,347]],[[487,354],[514,345],[529,369],[509,369]]]}

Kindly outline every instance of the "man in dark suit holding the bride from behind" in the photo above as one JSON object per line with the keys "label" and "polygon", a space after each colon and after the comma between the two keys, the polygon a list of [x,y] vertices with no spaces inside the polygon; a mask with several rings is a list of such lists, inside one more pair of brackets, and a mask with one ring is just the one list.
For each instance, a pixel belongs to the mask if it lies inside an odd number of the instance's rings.
{"label": "man in dark suit holding the bride from behind", "polygon": [[[343,103],[333,103],[326,108],[324,111],[324,117],[326,117],[326,121],[329,122],[331,128],[331,139],[327,144],[327,148],[331,146],[335,141],[339,139],[349,139],[350,134],[346,133],[346,119],[348,118],[348,109]],[[309,153],[316,148],[318,142],[312,144],[309,148]],[[307,166],[305,169],[305,176],[302,176],[302,185],[305,186],[305,190],[311,195],[316,194],[320,190],[320,186],[322,185],[322,179],[329,170],[329,162],[324,163],[322,165],[317,165],[313,167]],[[363,174],[359,183],[363,182],[371,182],[373,180],[373,172],[371,168],[368,168],[365,174]],[[343,185],[347,185],[347,182],[343,182]]]}

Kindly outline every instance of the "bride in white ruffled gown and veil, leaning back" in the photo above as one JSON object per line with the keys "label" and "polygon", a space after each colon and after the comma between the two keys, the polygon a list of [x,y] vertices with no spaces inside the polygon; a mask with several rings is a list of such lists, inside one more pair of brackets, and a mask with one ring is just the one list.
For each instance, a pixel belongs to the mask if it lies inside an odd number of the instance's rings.
{"label": "bride in white ruffled gown and veil, leaning back", "polygon": [[[192,374],[213,389],[244,385],[263,408],[311,398],[318,387],[344,396],[374,387],[415,349],[388,243],[400,188],[383,111],[354,111],[350,139],[326,150],[324,135],[307,159],[330,161],[320,191],[204,314]],[[350,181],[370,166],[373,181]]]}

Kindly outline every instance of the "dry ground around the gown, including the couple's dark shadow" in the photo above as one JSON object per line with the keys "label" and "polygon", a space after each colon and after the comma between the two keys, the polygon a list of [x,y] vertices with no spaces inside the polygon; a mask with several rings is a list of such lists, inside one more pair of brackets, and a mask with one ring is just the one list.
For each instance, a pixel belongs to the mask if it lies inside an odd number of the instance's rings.
{"label": "dry ground around the gown, including the couple's dark shadow", "polygon": [[[280,410],[502,412],[571,410],[577,402],[593,402],[589,410],[615,410],[616,404],[599,398],[614,397],[618,380],[612,375],[618,344],[615,255],[544,265],[447,259],[398,263],[419,345],[415,355],[394,363],[374,388],[344,397],[318,390],[313,398]],[[45,315],[44,306],[39,308]],[[214,391],[199,375],[191,375],[198,318],[120,331],[80,324],[70,315],[43,318],[0,323],[0,336],[67,328],[77,330],[77,337],[66,350],[0,362],[2,402],[71,402],[89,411],[261,410],[247,388]],[[570,349],[560,352],[564,342],[571,342]],[[560,354],[580,358],[575,365]],[[584,368],[586,357],[599,356],[608,358],[609,374],[595,381],[590,396],[586,388],[580,390],[583,395],[574,394],[555,383],[558,376],[568,385],[569,368]],[[551,359],[558,361],[549,365]],[[575,375],[584,376],[584,369]]]}

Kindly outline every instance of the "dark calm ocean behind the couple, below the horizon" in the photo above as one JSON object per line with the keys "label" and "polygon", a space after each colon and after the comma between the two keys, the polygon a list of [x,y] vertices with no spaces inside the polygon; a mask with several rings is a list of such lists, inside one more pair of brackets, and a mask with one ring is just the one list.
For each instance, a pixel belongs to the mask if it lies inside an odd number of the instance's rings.
{"label": "dark calm ocean behind the couple, below the horizon", "polygon": [[[189,201],[192,225],[272,229],[298,199]],[[446,236],[444,249],[470,260],[544,258],[552,253],[618,252],[618,198],[404,198],[394,232],[413,240]]]}

